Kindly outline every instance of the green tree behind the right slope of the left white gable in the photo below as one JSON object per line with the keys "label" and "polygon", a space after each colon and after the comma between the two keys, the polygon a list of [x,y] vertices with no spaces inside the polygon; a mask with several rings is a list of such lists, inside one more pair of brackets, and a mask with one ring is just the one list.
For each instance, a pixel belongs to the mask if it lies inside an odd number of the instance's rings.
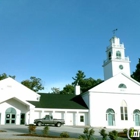
{"label": "green tree behind the right slope of the left white gable", "polygon": [[21,82],[24,86],[28,87],[29,89],[38,92],[39,90],[43,90],[44,87],[42,85],[41,79],[36,77],[30,77],[30,80],[24,80]]}

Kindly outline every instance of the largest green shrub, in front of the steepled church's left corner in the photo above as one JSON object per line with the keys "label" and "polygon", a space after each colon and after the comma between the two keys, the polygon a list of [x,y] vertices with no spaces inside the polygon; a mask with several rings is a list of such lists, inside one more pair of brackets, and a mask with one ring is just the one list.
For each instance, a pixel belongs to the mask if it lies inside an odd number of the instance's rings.
{"label": "largest green shrub, in front of the steepled church's left corner", "polygon": [[94,134],[94,130],[93,128],[89,129],[88,127],[86,127],[83,131],[84,135],[80,135],[79,136],[79,139],[82,139],[82,140],[91,140],[91,139],[94,139],[93,138],[93,134]]}

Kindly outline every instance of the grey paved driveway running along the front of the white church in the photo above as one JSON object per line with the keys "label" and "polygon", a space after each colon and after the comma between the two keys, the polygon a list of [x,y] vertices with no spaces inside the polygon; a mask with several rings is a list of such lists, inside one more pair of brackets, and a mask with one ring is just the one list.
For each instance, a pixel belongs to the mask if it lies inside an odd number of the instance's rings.
{"label": "grey paved driveway running along the front of the white church", "polygon": [[[37,127],[36,133],[42,134],[44,126]],[[61,126],[61,127],[49,127],[49,135],[59,136],[61,132],[66,131],[69,133],[70,137],[78,138],[79,135],[83,134],[84,127],[75,127],[75,126]],[[28,126],[24,125],[0,125],[0,130],[5,130],[6,132],[0,132],[0,140],[2,139],[27,139],[29,137],[15,136],[15,134],[25,134],[28,133]],[[94,128],[95,134],[94,137],[101,139],[99,134],[99,128]],[[111,131],[111,129],[107,129]],[[31,138],[31,137],[30,137]],[[32,137],[32,139],[40,139]]]}

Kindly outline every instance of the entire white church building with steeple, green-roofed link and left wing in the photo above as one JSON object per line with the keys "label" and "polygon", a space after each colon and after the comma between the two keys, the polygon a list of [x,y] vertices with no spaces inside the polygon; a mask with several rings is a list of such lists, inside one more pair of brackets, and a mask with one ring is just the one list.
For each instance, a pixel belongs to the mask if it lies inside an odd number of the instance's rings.
{"label": "entire white church building with steeple, green-roofed link and left wing", "polygon": [[140,83],[130,77],[124,44],[110,39],[103,62],[104,82],[80,94],[36,93],[12,78],[0,81],[0,124],[31,124],[50,114],[65,125],[140,127]]}

